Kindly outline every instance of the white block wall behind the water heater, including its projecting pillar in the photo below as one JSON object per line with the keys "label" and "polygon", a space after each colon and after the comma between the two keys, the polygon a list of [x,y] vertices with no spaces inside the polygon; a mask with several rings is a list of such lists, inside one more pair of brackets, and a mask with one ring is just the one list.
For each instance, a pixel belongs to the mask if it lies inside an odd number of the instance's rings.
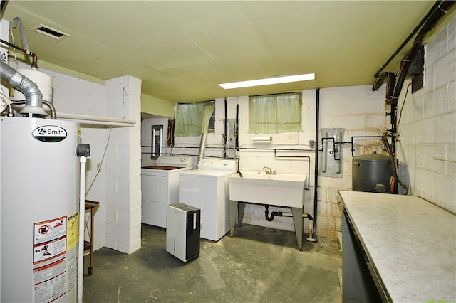
{"label": "white block wall behind the water heater, including its projecting pillar", "polygon": [[[14,63],[10,65],[14,66]],[[19,67],[28,65],[19,63]],[[86,198],[100,202],[95,214],[95,250],[103,246],[127,253],[138,250],[141,221],[140,80],[123,76],[100,85],[45,68],[39,70],[53,78],[53,105],[58,113],[138,122],[135,127],[113,127],[111,130],[83,124],[80,139],[81,143],[90,144]],[[98,166],[100,173],[96,174]]]}

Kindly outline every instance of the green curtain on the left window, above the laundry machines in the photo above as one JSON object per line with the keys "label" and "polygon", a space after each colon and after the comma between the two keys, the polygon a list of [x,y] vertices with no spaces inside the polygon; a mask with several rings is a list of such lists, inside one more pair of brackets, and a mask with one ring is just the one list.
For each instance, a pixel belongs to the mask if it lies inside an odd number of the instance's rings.
{"label": "green curtain on the left window, above the laundry machines", "polygon": [[175,137],[199,136],[207,133],[214,106],[214,102],[177,105]]}

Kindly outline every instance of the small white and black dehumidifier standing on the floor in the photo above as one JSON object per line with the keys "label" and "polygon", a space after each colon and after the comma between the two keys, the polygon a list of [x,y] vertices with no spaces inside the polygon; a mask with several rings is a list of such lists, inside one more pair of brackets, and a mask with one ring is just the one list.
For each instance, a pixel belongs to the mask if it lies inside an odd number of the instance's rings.
{"label": "small white and black dehumidifier standing on the floor", "polygon": [[200,218],[199,208],[183,203],[168,205],[166,251],[184,262],[199,257]]}

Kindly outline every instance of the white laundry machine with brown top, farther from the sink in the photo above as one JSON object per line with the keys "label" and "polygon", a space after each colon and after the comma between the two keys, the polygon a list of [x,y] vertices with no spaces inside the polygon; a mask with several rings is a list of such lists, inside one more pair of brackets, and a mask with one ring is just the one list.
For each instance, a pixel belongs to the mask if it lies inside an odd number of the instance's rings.
{"label": "white laundry machine with brown top, farther from the sink", "polygon": [[142,223],[166,228],[166,207],[179,202],[179,173],[190,169],[190,156],[159,156],[141,168]]}

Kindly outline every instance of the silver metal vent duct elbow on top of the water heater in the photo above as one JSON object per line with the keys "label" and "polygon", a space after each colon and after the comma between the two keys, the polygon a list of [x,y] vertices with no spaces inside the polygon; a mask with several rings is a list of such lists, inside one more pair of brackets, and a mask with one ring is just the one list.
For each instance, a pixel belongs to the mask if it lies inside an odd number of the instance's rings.
{"label": "silver metal vent duct elbow on top of the water heater", "polygon": [[18,73],[6,63],[0,61],[1,80],[6,81],[16,90],[24,94],[26,105],[21,110],[21,114],[47,116],[43,109],[43,97],[36,83]]}

